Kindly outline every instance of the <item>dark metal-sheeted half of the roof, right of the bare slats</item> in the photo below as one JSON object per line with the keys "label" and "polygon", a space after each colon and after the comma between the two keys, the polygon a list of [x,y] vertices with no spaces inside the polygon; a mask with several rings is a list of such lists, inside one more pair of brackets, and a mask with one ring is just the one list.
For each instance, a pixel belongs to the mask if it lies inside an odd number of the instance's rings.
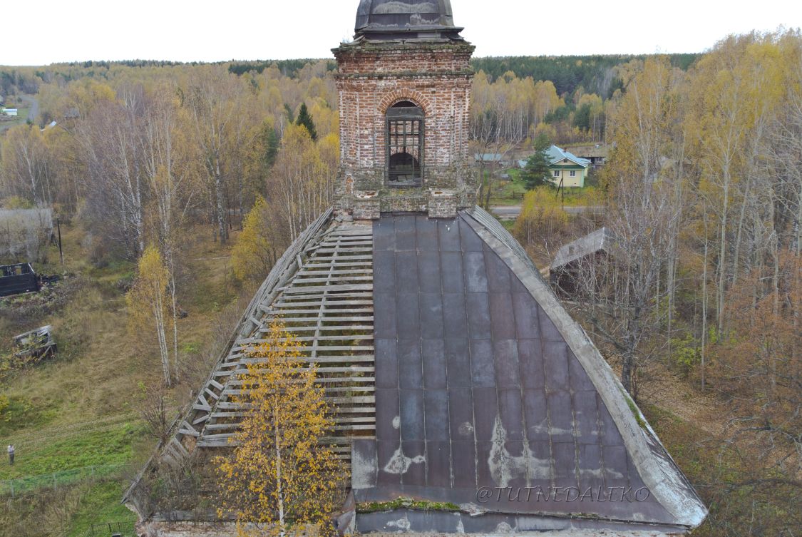
{"label": "dark metal-sheeted half of the roof, right of the bare slats", "polygon": [[[701,522],[699,499],[656,438],[647,446],[652,433],[609,367],[584,332],[570,332],[575,323],[493,222],[476,209],[374,223],[376,437],[354,439],[354,495],[461,511],[361,514],[357,530],[553,530],[571,519],[575,529],[677,531]],[[654,472],[673,474],[673,496]],[[579,494],[554,501],[565,490]]]}

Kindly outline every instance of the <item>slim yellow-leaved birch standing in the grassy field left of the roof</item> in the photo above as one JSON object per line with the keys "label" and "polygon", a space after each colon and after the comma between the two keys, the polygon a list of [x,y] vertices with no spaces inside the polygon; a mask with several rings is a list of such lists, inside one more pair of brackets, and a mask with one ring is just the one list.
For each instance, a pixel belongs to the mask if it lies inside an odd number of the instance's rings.
{"label": "slim yellow-leaved birch standing in the grassy field left of the roof", "polygon": [[166,333],[172,317],[169,311],[168,286],[170,275],[156,246],[145,248],[137,265],[137,275],[131,291],[125,296],[128,321],[132,333],[143,329],[153,331],[159,344],[164,383],[170,385],[172,367]]}

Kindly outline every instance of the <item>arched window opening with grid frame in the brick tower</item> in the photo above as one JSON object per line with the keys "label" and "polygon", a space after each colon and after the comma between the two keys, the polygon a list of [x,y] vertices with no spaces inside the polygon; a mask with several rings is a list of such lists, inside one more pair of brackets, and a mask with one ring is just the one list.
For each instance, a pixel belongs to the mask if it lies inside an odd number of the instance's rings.
{"label": "arched window opening with grid frame in the brick tower", "polygon": [[387,109],[387,182],[418,186],[423,181],[423,108],[403,100]]}

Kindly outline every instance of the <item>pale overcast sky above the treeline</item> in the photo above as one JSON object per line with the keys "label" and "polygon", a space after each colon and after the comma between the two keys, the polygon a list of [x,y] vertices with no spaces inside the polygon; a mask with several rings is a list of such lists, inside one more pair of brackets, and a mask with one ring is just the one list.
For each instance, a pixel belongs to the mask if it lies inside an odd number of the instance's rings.
{"label": "pale overcast sky above the treeline", "polygon": [[[87,59],[330,57],[358,0],[9,2],[0,65]],[[477,56],[701,52],[728,34],[802,26],[800,0],[452,0]]]}

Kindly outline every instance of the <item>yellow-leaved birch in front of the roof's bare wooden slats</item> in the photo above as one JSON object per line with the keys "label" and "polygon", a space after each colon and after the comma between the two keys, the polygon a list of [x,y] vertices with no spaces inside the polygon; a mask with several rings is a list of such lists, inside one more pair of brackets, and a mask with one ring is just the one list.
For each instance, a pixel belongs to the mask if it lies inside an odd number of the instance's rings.
{"label": "yellow-leaved birch in front of the roof's bare wooden slats", "polygon": [[248,409],[229,458],[217,458],[218,515],[234,515],[239,535],[285,535],[291,527],[326,533],[341,504],[342,462],[320,441],[334,428],[317,368],[280,321],[249,352],[241,375]]}

